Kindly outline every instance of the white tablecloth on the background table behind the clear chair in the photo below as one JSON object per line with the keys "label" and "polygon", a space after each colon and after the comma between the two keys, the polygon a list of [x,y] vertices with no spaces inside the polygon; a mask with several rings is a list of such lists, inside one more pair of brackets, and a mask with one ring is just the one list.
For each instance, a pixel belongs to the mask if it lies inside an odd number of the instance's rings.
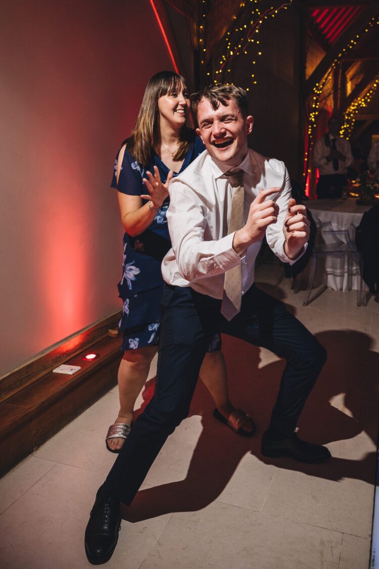
{"label": "white tablecloth on the background table behind the clear chair", "polygon": [[[309,200],[305,202],[307,208],[311,211],[312,216],[317,224],[330,222],[332,229],[349,230],[349,234],[354,241],[355,235],[351,231],[351,224],[357,226],[360,224],[362,215],[370,209],[370,206],[357,205],[356,199],[347,200]],[[344,238],[339,235],[341,241]],[[326,238],[325,238],[326,241]],[[329,239],[330,241],[330,239]],[[336,256],[330,255],[325,261],[325,272],[327,273],[327,285],[334,290],[347,290],[348,273],[347,263],[341,265],[341,260]],[[352,287],[357,290],[359,287],[358,267],[352,266],[354,277],[352,279]]]}

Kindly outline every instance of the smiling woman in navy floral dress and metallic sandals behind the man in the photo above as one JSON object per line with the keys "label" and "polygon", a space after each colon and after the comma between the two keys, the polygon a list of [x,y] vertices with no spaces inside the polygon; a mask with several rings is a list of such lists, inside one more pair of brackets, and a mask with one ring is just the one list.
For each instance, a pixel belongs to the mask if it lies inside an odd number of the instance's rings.
{"label": "smiling woman in navy floral dress and metallic sandals behind the man", "polygon": [[[205,150],[194,130],[186,126],[189,112],[184,78],[171,71],[157,73],[146,86],[131,136],[116,156],[111,187],[117,189],[126,233],[123,278],[119,282],[124,302],[120,320],[123,358],[117,377],[120,411],[106,438],[111,452],[120,452],[131,430],[133,408],[157,352],[161,261],[171,248],[166,222],[168,184]],[[214,399],[215,418],[238,434],[252,435],[254,422],[241,409],[236,410],[229,399],[219,334],[209,345],[200,374]]]}

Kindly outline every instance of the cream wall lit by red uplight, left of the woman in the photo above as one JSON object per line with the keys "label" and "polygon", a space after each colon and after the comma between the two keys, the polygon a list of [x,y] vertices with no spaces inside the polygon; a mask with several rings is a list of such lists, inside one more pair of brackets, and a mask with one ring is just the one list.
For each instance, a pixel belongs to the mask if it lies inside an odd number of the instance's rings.
{"label": "cream wall lit by red uplight, left of the woman", "polygon": [[3,0],[0,53],[2,375],[121,308],[113,162],[172,64],[149,0]]}

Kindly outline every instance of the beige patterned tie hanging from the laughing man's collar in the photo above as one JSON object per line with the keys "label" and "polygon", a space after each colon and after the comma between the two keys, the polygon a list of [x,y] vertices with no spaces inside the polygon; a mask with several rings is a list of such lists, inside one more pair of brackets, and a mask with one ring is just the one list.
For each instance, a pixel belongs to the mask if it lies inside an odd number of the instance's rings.
{"label": "beige patterned tie hanging from the laughing man's collar", "polygon": [[[243,170],[236,168],[233,172],[225,172],[231,186],[233,197],[231,200],[230,219],[227,234],[233,233],[243,226],[244,189],[242,183]],[[231,320],[241,310],[242,299],[242,265],[241,263],[225,273],[224,291],[221,303],[221,314]]]}

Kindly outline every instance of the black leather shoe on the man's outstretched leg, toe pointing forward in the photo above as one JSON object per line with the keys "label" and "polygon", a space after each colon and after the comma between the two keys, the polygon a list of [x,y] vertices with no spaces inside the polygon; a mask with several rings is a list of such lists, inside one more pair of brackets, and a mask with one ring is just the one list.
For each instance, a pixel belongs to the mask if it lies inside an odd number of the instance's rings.
{"label": "black leather shoe on the man's outstretched leg, toe pointing forward", "polygon": [[89,563],[101,565],[111,559],[120,528],[120,502],[100,486],[85,528],[84,547]]}

